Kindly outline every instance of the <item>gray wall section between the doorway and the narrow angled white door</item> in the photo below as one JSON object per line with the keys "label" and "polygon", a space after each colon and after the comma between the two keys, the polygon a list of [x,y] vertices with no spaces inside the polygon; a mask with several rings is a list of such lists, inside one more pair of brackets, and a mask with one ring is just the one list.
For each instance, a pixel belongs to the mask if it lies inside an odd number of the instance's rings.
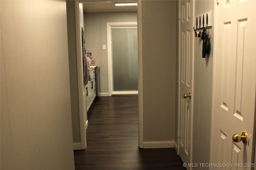
{"label": "gray wall section between the doorway and the narrow angled white door", "polygon": [[174,141],[176,1],[142,0],[142,41],[144,142]]}

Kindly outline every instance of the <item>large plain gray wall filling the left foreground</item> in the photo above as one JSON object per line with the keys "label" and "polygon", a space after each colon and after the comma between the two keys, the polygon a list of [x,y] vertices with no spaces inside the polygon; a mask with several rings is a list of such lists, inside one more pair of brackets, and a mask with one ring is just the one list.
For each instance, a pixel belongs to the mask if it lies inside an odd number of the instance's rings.
{"label": "large plain gray wall filling the left foreground", "polygon": [[66,1],[0,11],[0,168],[74,170]]}

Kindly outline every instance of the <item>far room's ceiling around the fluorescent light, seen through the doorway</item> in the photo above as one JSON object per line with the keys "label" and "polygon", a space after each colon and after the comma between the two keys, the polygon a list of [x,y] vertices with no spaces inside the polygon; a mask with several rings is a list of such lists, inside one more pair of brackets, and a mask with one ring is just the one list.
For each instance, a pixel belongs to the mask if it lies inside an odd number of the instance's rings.
{"label": "far room's ceiling around the fluorescent light, seen through the doorway", "polygon": [[[84,12],[137,11],[137,6],[115,6],[115,2],[136,2],[137,0],[84,0]],[[81,2],[81,1],[80,1]]]}

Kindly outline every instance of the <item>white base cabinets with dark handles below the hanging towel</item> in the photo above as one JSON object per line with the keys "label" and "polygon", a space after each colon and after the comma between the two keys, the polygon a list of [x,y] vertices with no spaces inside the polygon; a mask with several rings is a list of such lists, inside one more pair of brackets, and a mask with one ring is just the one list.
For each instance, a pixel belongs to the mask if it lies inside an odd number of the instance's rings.
{"label": "white base cabinets with dark handles below the hanging towel", "polygon": [[95,68],[91,68],[92,73],[92,81],[88,82],[86,86],[84,86],[84,93],[86,98],[86,110],[88,111],[92,105],[96,97],[96,75],[95,75]]}

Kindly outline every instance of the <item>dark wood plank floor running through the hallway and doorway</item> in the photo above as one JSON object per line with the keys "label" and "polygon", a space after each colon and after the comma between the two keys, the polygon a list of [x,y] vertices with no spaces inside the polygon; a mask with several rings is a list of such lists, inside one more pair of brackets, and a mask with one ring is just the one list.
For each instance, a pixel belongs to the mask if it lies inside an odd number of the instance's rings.
{"label": "dark wood plank floor running through the hallway and doorway", "polygon": [[88,121],[87,149],[74,151],[76,170],[186,169],[173,148],[139,149],[138,96],[99,97]]}

